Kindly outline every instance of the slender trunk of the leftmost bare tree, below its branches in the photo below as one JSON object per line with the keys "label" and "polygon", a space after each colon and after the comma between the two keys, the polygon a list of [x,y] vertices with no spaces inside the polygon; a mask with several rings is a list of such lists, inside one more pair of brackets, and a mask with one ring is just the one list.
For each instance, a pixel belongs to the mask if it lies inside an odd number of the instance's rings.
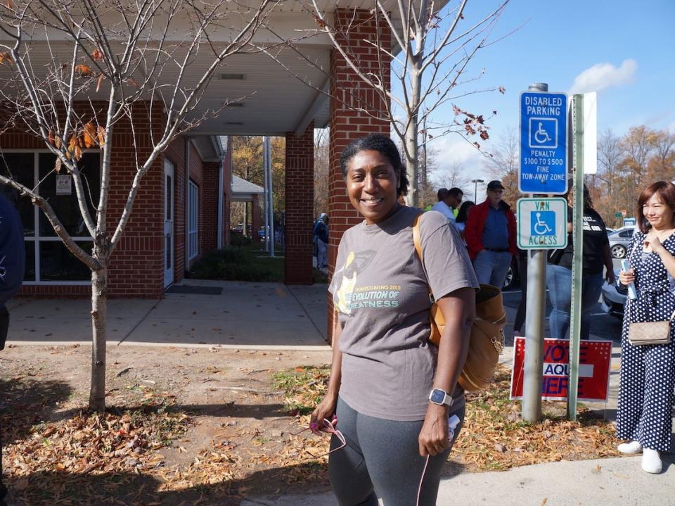
{"label": "slender trunk of the leftmost bare tree, below its branches", "polygon": [[108,334],[108,259],[91,272],[91,389],[89,409],[105,412],[105,340]]}

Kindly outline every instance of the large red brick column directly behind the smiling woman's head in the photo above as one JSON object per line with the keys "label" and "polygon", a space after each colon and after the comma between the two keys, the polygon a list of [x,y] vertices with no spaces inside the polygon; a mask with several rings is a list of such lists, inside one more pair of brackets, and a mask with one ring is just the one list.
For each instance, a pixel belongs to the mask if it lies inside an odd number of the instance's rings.
{"label": "large red brick column directly behind the smiling woman's head", "polygon": [[[391,47],[391,32],[386,23],[380,23],[380,34],[375,25],[375,15],[370,11],[353,9],[337,9],[335,25],[349,26],[347,34],[338,33],[337,39],[345,52],[356,56],[362,72],[373,72],[382,75],[385,85],[390,87],[390,61],[383,59],[386,68],[380,69],[378,54],[371,42],[379,39],[387,49]],[[383,56],[384,57],[384,56]],[[350,68],[345,58],[333,49],[330,55],[330,172],[328,216],[330,217],[330,237],[328,238],[328,278],[332,279],[335,271],[335,258],[338,255],[338,244],[342,234],[349,227],[359,223],[362,218],[352,208],[345,189],[345,179],[340,170],[340,154],[354,139],[368,134],[390,134],[388,121],[371,118],[356,108],[368,108],[375,115],[385,115],[385,103],[375,91],[368,87]],[[328,341],[333,340],[333,302],[328,296]]]}

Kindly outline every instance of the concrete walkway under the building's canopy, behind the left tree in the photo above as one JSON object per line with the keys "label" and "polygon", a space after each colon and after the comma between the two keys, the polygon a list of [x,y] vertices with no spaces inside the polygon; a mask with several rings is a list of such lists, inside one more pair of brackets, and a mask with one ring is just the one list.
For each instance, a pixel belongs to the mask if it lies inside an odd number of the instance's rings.
{"label": "concrete walkway under the building's canopy, behind the left tree", "polygon": [[[326,285],[187,280],[219,295],[166,293],[108,301],[110,345],[326,350]],[[207,290],[204,290],[207,291]],[[89,299],[15,298],[8,343],[91,343]]]}

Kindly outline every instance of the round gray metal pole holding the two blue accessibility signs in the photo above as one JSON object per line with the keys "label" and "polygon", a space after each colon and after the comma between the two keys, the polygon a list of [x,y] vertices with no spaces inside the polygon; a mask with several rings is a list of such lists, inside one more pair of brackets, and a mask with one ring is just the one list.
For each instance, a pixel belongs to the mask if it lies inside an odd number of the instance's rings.
{"label": "round gray metal pole holding the two blue accessibility signs", "polygon": [[[548,91],[548,84],[537,82],[529,91]],[[534,194],[530,195],[534,197]],[[546,258],[548,250],[530,250],[527,259],[527,311],[525,313],[525,363],[523,365],[522,419],[541,419],[541,379],[544,360],[544,322],[546,320]]]}

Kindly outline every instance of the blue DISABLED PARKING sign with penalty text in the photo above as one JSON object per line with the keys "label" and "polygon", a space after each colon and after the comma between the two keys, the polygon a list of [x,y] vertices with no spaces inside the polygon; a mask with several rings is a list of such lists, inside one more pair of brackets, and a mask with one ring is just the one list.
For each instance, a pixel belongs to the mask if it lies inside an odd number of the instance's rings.
{"label": "blue DISABLED PARKING sign with penalty text", "polygon": [[567,192],[567,95],[520,93],[520,170],[523,194]]}

